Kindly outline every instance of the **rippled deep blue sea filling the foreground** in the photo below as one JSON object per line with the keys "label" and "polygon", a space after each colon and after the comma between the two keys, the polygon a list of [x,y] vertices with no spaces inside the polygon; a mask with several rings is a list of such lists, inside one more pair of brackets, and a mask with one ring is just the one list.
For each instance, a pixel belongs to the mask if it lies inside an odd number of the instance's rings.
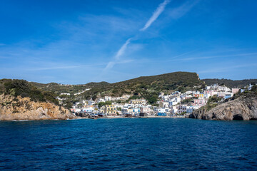
{"label": "rippled deep blue sea filling the foreground", "polygon": [[257,170],[257,122],[0,122],[0,170]]}

